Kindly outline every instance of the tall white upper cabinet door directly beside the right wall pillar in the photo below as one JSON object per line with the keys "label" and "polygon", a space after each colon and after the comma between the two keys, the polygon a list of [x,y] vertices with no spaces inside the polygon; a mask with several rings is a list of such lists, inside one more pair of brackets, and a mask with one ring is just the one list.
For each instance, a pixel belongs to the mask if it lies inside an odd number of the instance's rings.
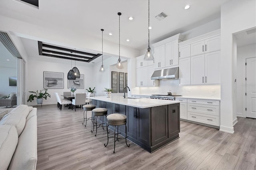
{"label": "tall white upper cabinet door directly beside the right wall pillar", "polygon": [[220,84],[220,51],[205,54],[205,84]]}

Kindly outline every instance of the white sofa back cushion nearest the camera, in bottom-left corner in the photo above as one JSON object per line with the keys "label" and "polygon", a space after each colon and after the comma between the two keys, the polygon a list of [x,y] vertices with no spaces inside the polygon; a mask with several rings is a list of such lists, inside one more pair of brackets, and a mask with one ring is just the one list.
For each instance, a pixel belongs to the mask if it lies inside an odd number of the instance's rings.
{"label": "white sofa back cushion nearest the camera, in bottom-left corner", "polygon": [[16,149],[18,134],[13,125],[1,125],[0,136],[0,170],[6,170]]}

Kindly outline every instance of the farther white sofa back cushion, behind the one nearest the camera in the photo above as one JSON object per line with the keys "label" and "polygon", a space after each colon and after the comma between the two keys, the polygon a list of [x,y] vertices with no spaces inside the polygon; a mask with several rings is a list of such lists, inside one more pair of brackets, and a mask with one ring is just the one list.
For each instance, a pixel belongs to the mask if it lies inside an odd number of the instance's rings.
{"label": "farther white sofa back cushion, behind the one nearest the camera", "polygon": [[5,116],[1,121],[0,125],[14,125],[20,136],[25,123],[26,117],[28,116],[29,110],[27,105],[19,105],[13,109],[8,116]]}

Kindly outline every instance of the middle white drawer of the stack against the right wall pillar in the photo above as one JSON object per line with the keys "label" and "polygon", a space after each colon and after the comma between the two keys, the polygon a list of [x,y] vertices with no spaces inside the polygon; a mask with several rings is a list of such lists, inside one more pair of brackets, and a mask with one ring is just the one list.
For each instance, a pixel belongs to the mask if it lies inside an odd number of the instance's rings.
{"label": "middle white drawer of the stack against the right wall pillar", "polygon": [[220,116],[219,106],[188,103],[188,111],[195,113],[203,113],[206,115]]}

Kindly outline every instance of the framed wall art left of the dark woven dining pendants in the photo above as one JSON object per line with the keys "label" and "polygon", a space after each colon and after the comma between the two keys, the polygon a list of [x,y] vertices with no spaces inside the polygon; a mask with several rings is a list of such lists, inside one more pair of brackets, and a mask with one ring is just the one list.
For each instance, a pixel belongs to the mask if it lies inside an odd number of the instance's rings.
{"label": "framed wall art left of the dark woven dining pendants", "polygon": [[44,89],[64,89],[64,73],[44,71]]}

